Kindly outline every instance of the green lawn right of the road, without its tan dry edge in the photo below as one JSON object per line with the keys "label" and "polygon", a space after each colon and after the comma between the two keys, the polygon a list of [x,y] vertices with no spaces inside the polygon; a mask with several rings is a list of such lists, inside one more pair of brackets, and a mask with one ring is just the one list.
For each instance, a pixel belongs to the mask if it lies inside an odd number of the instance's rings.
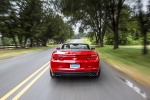
{"label": "green lawn right of the road, without its tan dry edge", "polygon": [[[150,76],[150,54],[142,55],[141,49],[120,46],[119,49],[112,49],[113,46],[96,47],[100,57],[105,61],[115,60],[130,67],[136,68],[143,72],[143,74]],[[150,52],[150,50],[149,50]]]}

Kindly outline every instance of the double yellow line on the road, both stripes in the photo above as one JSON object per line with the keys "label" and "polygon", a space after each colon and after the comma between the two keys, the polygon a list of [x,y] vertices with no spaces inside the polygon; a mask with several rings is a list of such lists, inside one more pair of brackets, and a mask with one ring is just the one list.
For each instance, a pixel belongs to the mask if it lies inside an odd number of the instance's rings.
{"label": "double yellow line on the road, both stripes", "polygon": [[10,95],[12,95],[15,91],[17,91],[21,86],[23,86],[26,82],[28,82],[32,77],[34,77],[38,72],[40,72],[42,69],[45,69],[38,74],[37,77],[35,77],[25,88],[23,88],[12,100],[18,100],[49,68],[47,65],[49,62],[41,66],[36,72],[31,74],[29,77],[27,77],[24,81],[22,81],[19,85],[17,85],[15,88],[13,88],[11,91],[9,91],[6,95],[4,95],[0,100],[6,100]]}

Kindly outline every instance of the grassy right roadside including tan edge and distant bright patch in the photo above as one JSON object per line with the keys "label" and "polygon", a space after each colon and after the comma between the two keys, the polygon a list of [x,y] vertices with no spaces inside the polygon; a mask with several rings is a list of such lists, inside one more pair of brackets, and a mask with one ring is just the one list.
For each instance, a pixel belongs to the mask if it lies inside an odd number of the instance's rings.
{"label": "grassy right roadside including tan edge and distant bright patch", "polygon": [[[90,43],[85,38],[82,41]],[[101,59],[139,83],[150,87],[150,54],[142,55],[141,46],[120,46],[117,50],[113,50],[113,46],[95,46],[95,48]],[[148,49],[150,53],[150,47]]]}

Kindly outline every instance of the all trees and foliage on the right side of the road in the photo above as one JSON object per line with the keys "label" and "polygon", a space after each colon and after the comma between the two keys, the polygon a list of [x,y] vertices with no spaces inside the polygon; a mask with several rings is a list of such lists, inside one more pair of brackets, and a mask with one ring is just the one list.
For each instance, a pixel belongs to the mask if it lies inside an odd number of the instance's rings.
{"label": "all trees and foliage on the right side of the road", "polygon": [[[148,44],[150,2],[147,12],[143,11],[141,0],[53,0],[55,9],[81,23],[82,30],[90,30],[89,36],[103,47],[104,42],[119,45],[140,44],[143,40],[144,51]],[[134,9],[135,8],[135,9]],[[145,26],[146,25],[146,26]],[[139,34],[141,33],[141,34]],[[138,40],[139,39],[139,40]],[[136,41],[139,42],[136,42]],[[143,52],[146,54],[147,52]]]}

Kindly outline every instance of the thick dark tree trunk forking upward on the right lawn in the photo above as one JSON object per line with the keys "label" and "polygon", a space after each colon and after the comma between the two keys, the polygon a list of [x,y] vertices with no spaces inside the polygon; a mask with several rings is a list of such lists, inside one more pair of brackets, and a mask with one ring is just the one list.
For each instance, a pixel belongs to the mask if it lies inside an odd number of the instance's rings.
{"label": "thick dark tree trunk forking upward on the right lawn", "polygon": [[114,34],[114,49],[119,48],[119,24],[124,2],[125,0],[105,0],[104,2],[109,19],[108,25]]}

